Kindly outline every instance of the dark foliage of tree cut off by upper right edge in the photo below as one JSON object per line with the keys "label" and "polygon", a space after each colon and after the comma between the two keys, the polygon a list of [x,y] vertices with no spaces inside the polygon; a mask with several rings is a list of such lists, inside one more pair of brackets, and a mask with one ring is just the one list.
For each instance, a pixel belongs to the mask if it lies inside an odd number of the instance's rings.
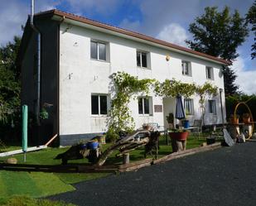
{"label": "dark foliage of tree cut off by upper right edge", "polygon": [[256,0],[252,7],[249,8],[249,12],[246,15],[246,21],[252,25],[251,31],[254,32],[254,44],[252,45],[252,60],[256,58]]}

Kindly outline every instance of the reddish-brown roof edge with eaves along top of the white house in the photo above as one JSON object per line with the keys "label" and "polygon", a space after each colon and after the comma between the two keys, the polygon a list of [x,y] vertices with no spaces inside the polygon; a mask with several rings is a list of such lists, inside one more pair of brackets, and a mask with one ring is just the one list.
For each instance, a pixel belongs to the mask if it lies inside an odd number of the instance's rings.
{"label": "reddish-brown roof edge with eaves along top of the white house", "polygon": [[54,16],[54,15],[60,16],[60,17],[65,17],[65,18],[68,18],[70,20],[74,20],[74,21],[77,21],[77,22],[82,22],[82,23],[85,23],[85,24],[88,24],[88,25],[91,25],[91,26],[97,26],[97,27],[100,27],[100,28],[104,28],[106,30],[114,31],[114,32],[117,32],[117,33],[120,33],[120,34],[123,34],[123,35],[133,36],[135,38],[138,38],[138,39],[141,39],[141,40],[144,40],[144,41],[150,41],[150,42],[156,43],[160,46],[167,46],[167,47],[170,47],[171,49],[181,50],[181,51],[184,51],[184,52],[192,54],[192,55],[199,55],[199,56],[205,57],[205,58],[210,59],[210,60],[218,61],[218,62],[220,62],[222,64],[225,64],[225,65],[231,65],[232,64],[229,60],[224,60],[224,59],[212,56],[212,55],[206,55],[206,54],[201,53],[201,52],[196,51],[196,50],[191,50],[191,49],[188,49],[188,48],[183,47],[183,46],[177,46],[177,45],[171,44],[167,41],[158,40],[158,39],[153,38],[151,36],[142,35],[138,32],[128,31],[128,30],[119,28],[117,26],[111,26],[111,25],[104,24],[104,23],[101,23],[101,22],[96,22],[94,20],[90,20],[90,19],[85,18],[85,17],[80,17],[80,16],[77,16],[75,14],[68,13],[68,12],[61,12],[60,10],[56,10],[56,9],[49,10],[49,11],[46,11],[46,12],[39,12],[39,13],[36,14],[36,17],[39,17],[39,18],[41,18],[41,17],[51,17],[51,16]]}

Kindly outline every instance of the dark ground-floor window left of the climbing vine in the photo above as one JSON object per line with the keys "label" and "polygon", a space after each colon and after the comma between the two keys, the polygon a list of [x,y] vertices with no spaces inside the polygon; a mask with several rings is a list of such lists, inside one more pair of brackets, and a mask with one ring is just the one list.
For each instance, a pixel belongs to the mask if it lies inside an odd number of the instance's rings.
{"label": "dark ground-floor window left of the climbing vine", "polygon": [[102,115],[108,113],[107,95],[91,95],[91,113]]}

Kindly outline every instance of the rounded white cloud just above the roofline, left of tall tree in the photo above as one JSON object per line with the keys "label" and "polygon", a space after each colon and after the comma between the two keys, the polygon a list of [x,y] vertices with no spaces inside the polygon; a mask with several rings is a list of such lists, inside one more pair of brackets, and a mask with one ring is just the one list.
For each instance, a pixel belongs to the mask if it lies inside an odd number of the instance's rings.
{"label": "rounded white cloud just above the roofline, left of tall tree", "polygon": [[157,35],[157,39],[169,41],[179,46],[186,46],[185,40],[188,39],[188,35],[182,26],[176,23],[171,23],[164,26],[162,31]]}

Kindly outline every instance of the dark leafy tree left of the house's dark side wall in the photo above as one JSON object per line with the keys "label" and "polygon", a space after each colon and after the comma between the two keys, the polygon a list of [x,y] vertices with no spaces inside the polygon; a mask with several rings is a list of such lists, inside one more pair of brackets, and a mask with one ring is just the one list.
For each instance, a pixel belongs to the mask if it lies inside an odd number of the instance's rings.
{"label": "dark leafy tree left of the house's dark side wall", "polygon": [[21,39],[0,47],[0,122],[7,124],[20,106],[20,79],[16,60]]}

